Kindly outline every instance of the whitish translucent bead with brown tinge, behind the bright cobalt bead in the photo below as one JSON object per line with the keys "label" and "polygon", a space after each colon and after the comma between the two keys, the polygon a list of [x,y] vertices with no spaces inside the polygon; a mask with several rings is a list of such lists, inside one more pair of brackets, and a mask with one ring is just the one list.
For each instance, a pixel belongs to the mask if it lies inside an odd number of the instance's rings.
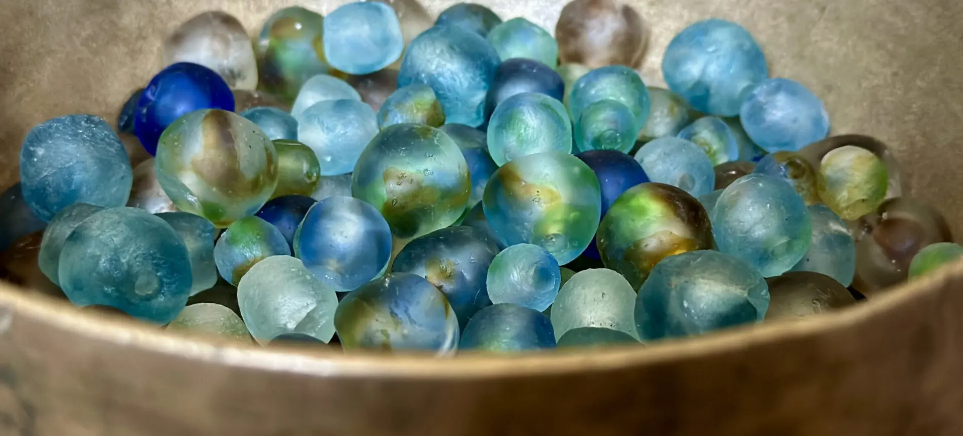
{"label": "whitish translucent bead with brown tinge, behind the bright cobalt bead", "polygon": [[229,13],[199,13],[164,40],[164,64],[201,64],[221,74],[231,88],[257,88],[257,61],[247,30]]}

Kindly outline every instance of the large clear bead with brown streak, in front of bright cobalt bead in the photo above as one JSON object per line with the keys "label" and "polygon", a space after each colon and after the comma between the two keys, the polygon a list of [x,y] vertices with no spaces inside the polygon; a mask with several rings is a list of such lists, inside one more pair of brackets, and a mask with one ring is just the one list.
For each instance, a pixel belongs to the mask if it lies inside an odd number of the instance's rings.
{"label": "large clear bead with brown streak, in front of bright cobalt bead", "polygon": [[274,144],[226,111],[197,111],[171,124],[156,161],[157,180],[177,208],[219,228],[254,215],[277,187]]}

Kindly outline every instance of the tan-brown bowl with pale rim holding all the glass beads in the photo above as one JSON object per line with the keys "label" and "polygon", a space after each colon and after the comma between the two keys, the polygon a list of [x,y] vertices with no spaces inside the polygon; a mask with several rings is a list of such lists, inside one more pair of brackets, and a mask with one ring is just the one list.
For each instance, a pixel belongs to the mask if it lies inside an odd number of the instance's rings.
{"label": "tan-brown bowl with pale rim holding all the glass beads", "polygon": [[[960,234],[963,3],[628,1],[652,26],[643,68],[652,83],[685,25],[738,21],[774,76],[822,97],[835,134],[888,143],[911,193]],[[328,13],[341,2],[301,4]],[[294,3],[5,2],[0,185],[13,183],[34,124],[113,119],[188,17],[222,9],[256,32]],[[547,29],[563,6],[484,3]],[[0,435],[959,435],[961,288],[957,265],[831,316],[644,348],[435,360],[182,338],[0,285]]]}

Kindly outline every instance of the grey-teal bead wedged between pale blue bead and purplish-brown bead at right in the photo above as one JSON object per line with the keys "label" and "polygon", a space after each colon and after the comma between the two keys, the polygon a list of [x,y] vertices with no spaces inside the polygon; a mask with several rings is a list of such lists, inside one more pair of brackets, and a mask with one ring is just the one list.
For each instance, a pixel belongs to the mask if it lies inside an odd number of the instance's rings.
{"label": "grey-teal bead wedged between pale blue bead and purplish-brown bead at right", "polygon": [[824,204],[809,206],[813,237],[809,251],[795,264],[794,271],[828,275],[848,287],[856,274],[856,243],[846,221]]}

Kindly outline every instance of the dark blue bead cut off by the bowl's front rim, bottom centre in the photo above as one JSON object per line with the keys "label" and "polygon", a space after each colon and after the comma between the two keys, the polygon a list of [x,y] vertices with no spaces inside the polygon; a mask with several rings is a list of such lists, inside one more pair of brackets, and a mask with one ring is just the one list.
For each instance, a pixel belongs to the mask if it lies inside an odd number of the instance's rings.
{"label": "dark blue bead cut off by the bowl's front rim, bottom centre", "polygon": [[506,353],[555,346],[555,329],[548,317],[528,307],[502,303],[481,309],[468,322],[459,348]]}

